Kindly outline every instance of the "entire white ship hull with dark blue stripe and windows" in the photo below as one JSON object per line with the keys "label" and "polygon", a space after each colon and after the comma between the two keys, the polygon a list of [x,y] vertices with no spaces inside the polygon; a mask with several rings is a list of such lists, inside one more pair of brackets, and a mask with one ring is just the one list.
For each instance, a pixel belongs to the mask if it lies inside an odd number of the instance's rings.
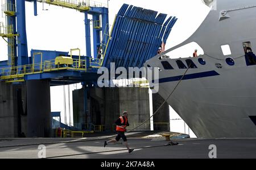
{"label": "entire white ship hull with dark blue stripe and windows", "polygon": [[[188,69],[167,102],[199,138],[255,138],[256,63],[246,60],[249,57],[245,54],[249,48],[256,51],[256,2],[204,2],[212,6],[212,10],[196,32],[183,43],[148,60],[144,66],[161,70],[159,84],[155,85],[159,85],[159,94],[167,99],[187,70],[178,67],[177,60],[185,67],[189,65],[186,62],[189,59],[171,59],[169,52],[197,43],[204,55],[190,58],[197,68]],[[224,47],[230,50],[224,51]],[[166,55],[170,55],[167,57],[170,59],[162,59]],[[199,59],[206,63],[200,63]],[[230,60],[233,63],[230,64]],[[165,68],[163,61],[173,68]]]}

